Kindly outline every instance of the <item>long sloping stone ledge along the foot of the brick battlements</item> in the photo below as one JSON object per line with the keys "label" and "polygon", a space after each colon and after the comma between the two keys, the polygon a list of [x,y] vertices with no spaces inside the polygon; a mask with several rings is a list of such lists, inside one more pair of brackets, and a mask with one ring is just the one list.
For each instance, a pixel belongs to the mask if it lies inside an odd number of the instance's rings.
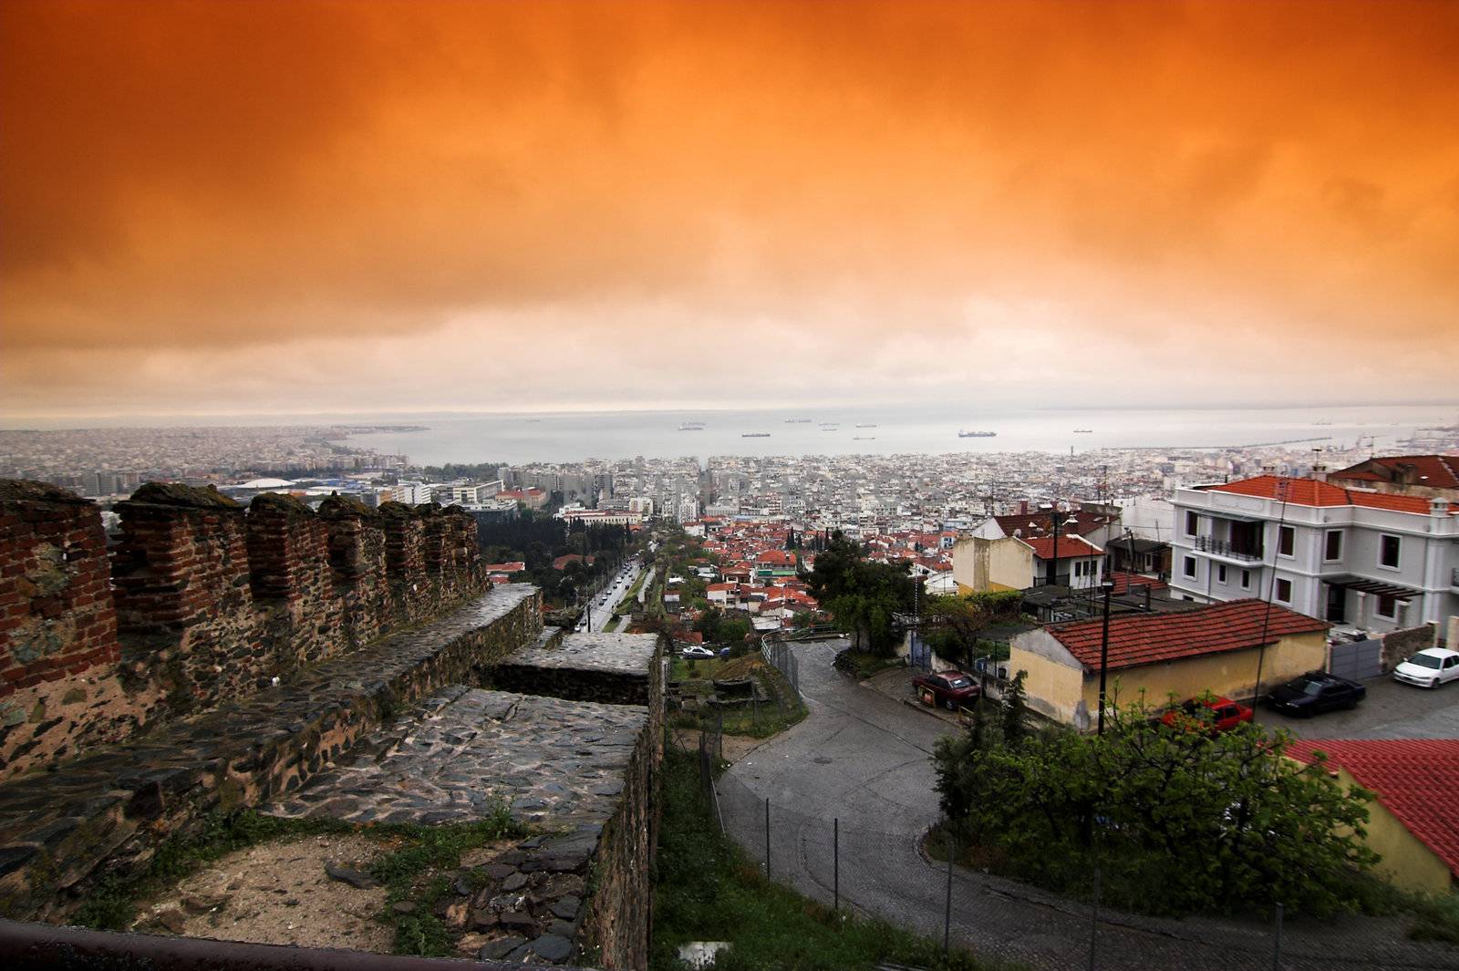
{"label": "long sloping stone ledge along the foot of the brick battlements", "polygon": [[430,625],[73,760],[44,786],[0,784],[0,916],[64,919],[96,879],[142,866],[168,835],[213,809],[296,792],[406,706],[471,681],[540,631],[535,588],[502,586]]}

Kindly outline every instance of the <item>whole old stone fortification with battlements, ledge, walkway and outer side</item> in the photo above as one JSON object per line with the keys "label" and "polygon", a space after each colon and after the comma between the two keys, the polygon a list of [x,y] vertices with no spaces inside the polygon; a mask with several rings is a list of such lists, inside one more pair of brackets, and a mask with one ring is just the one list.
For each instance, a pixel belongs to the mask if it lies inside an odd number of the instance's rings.
{"label": "whole old stone fortification with battlements, ledge, walkway and outer side", "polygon": [[118,512],[109,561],[95,504],[0,481],[0,916],[64,920],[213,811],[500,805],[538,835],[461,884],[481,956],[646,967],[654,636],[546,631],[455,507],[149,483]]}

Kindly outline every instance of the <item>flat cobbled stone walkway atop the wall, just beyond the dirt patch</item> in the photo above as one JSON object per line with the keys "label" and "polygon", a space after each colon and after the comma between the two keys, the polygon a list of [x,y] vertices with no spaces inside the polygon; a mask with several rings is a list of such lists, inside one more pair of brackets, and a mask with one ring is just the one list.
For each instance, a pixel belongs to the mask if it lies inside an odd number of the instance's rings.
{"label": "flat cobbled stone walkway atop the wall, just beyond the dirt patch", "polygon": [[439,825],[506,802],[527,822],[597,828],[646,726],[645,709],[455,685],[267,812]]}

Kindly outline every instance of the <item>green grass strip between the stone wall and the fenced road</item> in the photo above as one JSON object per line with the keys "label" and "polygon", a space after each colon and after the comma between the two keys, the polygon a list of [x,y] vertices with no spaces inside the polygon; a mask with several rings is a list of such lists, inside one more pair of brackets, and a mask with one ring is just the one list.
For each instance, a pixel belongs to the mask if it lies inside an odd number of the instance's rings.
{"label": "green grass strip between the stone wall and the fenced road", "polygon": [[677,971],[680,945],[728,940],[716,971],[865,971],[881,962],[929,971],[992,968],[966,951],[884,921],[835,913],[765,879],[719,832],[699,786],[696,758],[664,755],[664,819],[654,879],[651,971]]}

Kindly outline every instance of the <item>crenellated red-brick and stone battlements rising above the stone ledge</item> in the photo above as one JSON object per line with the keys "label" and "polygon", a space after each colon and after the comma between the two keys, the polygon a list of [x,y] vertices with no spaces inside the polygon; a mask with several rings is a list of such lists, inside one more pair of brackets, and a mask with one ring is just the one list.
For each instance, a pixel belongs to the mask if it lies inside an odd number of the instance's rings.
{"label": "crenellated red-brick and stone battlements rising above the stone ledge", "polygon": [[0,480],[0,779],[287,681],[486,589],[458,507],[147,483],[96,506]]}

